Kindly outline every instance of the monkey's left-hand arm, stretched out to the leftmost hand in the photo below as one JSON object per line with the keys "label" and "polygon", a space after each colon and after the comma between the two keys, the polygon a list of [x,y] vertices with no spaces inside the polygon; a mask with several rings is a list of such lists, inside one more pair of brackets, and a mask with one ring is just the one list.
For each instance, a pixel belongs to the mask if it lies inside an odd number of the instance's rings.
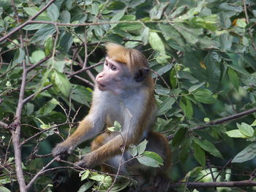
{"label": "monkey's left-hand arm, stretched out to the leftmost hand", "polygon": [[102,130],[104,125],[105,118],[103,113],[96,115],[94,112],[90,112],[89,115],[79,123],[78,128],[70,137],[53,148],[53,156],[71,153],[81,142],[99,134],[99,131]]}

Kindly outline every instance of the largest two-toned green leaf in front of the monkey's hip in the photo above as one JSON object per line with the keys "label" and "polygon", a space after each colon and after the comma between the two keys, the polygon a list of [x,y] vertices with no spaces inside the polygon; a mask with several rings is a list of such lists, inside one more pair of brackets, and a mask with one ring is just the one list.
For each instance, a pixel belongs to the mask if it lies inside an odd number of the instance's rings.
{"label": "largest two-toned green leaf in front of the monkey's hip", "polygon": [[159,167],[163,165],[163,159],[157,153],[151,151],[144,151],[142,156],[137,157],[140,164],[152,167]]}

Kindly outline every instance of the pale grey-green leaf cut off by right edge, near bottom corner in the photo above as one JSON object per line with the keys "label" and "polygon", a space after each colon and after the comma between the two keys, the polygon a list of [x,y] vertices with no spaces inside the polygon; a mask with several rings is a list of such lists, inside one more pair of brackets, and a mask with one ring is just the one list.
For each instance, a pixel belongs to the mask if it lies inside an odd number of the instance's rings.
{"label": "pale grey-green leaf cut off by right edge, near bottom corner", "polygon": [[256,142],[252,142],[250,145],[244,148],[240,153],[238,153],[232,160],[232,163],[242,163],[249,161],[256,156]]}

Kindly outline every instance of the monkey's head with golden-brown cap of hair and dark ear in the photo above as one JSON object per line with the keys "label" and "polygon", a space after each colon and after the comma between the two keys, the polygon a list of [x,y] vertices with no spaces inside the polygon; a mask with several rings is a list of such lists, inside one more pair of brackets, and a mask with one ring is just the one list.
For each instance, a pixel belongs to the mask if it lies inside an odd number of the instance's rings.
{"label": "monkey's head with golden-brown cap of hair and dark ear", "polygon": [[108,56],[96,77],[100,91],[119,94],[151,82],[148,62],[142,53],[116,44],[108,44],[106,48]]}

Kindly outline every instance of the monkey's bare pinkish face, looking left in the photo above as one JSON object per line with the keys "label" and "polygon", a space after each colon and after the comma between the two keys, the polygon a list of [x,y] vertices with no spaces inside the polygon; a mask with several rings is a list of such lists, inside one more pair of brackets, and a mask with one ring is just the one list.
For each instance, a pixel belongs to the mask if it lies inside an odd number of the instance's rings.
{"label": "monkey's bare pinkish face, looking left", "polygon": [[132,84],[133,75],[127,64],[121,64],[110,58],[105,59],[102,72],[97,77],[97,87],[100,91],[123,93]]}

